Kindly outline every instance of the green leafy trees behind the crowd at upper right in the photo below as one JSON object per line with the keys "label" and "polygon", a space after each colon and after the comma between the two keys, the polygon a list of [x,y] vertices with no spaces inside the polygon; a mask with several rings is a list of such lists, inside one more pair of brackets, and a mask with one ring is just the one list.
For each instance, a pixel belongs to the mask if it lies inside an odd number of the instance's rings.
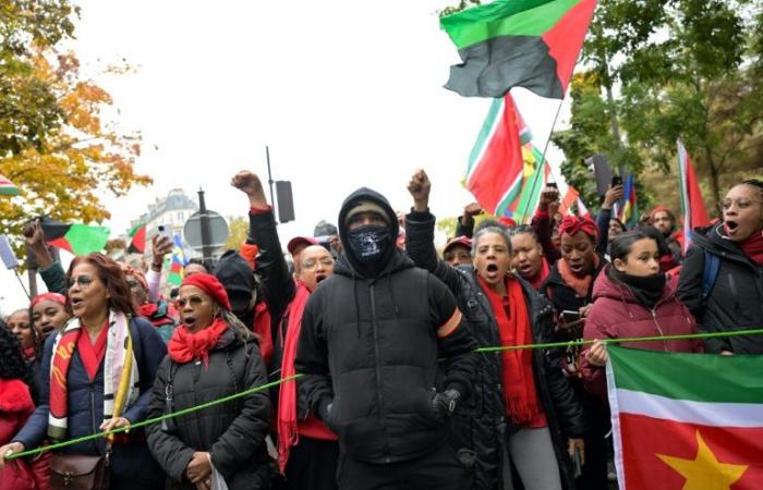
{"label": "green leafy trees behind the crowd at upper right", "polygon": [[644,182],[670,182],[656,197],[677,205],[679,137],[708,204],[754,172],[763,151],[759,8],[752,0],[601,2],[583,51],[588,76],[572,84],[570,128],[554,136],[570,182],[588,174],[586,157],[604,152]]}

